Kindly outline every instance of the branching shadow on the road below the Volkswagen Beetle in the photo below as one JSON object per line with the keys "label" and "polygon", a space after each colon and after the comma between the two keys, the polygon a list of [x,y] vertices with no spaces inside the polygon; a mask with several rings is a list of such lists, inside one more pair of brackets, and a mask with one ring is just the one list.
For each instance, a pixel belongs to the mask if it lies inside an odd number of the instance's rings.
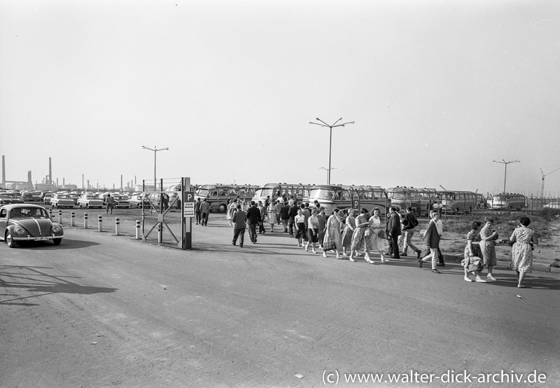
{"label": "branching shadow on the road below the Volkswagen Beetle", "polygon": [[38,303],[27,303],[27,300],[51,293],[90,295],[118,290],[109,287],[82,286],[70,281],[70,279],[80,279],[79,277],[52,275],[48,273],[48,270],[52,270],[52,268],[0,265],[0,288],[4,291],[18,289],[19,291],[15,292],[20,292],[17,294],[1,293],[0,305],[36,306]]}

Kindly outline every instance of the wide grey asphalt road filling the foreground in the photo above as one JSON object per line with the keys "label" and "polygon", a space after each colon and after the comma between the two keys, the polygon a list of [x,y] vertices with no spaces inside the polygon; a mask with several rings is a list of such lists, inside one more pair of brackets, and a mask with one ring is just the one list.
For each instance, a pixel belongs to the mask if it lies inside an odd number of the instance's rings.
{"label": "wide grey asphalt road filling the foreground", "polygon": [[[283,233],[233,247],[215,214],[193,228],[195,251],[78,227],[59,247],[0,244],[0,387],[560,385],[554,274],[467,283],[455,264],[323,258]],[[534,370],[545,383],[524,382]]]}

